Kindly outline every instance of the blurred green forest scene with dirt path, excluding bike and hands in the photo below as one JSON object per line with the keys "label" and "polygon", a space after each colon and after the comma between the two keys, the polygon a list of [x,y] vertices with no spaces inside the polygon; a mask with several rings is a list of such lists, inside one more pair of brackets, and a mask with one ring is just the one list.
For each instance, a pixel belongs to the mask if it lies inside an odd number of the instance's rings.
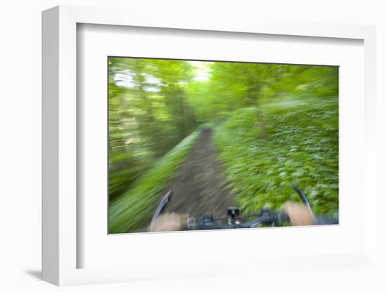
{"label": "blurred green forest scene with dirt path, excluding bike and hands", "polygon": [[338,213],[338,67],[108,58],[109,233],[300,201]]}

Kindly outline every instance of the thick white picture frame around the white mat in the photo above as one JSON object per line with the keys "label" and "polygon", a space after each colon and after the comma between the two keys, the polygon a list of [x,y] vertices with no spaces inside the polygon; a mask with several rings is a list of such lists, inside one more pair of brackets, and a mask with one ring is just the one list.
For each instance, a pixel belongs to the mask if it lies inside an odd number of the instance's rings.
{"label": "thick white picture frame around the white mat", "polygon": [[[161,15],[145,18],[141,13],[121,9],[58,6],[43,13],[43,279],[56,285],[96,284],[145,279],[175,279],[178,277],[216,276],[246,273],[262,267],[284,269],[328,267],[331,262],[340,266],[376,266],[375,203],[375,27],[328,23],[265,22],[245,20],[230,24],[227,20],[210,22],[196,18],[173,18],[168,23]],[[76,110],[76,25],[120,25],[129,27],[159,27],[172,29],[197,29],[199,31],[274,34],[319,38],[359,39],[364,41],[364,185],[366,201],[363,204],[364,244],[357,253],[334,255],[296,256],[291,258],[240,259],[236,263],[244,268],[236,271],[224,262],[206,263],[201,259],[189,267],[77,268],[77,124]],[[253,264],[253,266],[252,266]]]}

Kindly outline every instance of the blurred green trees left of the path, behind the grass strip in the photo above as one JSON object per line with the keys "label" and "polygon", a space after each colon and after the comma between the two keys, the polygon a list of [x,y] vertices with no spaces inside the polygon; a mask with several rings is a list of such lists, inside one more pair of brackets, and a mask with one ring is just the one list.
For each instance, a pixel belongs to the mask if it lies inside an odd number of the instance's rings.
{"label": "blurred green trees left of the path, behind the grass strip", "polygon": [[109,200],[194,131],[185,98],[192,66],[178,60],[109,58]]}

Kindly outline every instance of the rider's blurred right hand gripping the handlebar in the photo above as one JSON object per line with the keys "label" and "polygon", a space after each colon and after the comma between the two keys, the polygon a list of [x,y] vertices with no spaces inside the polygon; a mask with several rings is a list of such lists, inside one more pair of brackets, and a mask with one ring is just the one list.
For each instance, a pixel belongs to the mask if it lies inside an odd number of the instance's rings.
{"label": "rider's blurred right hand gripping the handlebar", "polygon": [[287,201],[281,210],[288,215],[293,226],[312,225],[315,222],[314,214],[304,204]]}

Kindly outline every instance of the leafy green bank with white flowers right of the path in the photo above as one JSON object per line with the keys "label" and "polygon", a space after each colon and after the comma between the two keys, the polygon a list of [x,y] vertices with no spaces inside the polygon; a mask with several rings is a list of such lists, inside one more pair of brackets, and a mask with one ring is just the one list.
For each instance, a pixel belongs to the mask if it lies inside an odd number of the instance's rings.
{"label": "leafy green bank with white flowers right of the path", "polygon": [[215,145],[244,212],[299,200],[338,212],[338,98],[282,98],[237,110],[216,129]]}

